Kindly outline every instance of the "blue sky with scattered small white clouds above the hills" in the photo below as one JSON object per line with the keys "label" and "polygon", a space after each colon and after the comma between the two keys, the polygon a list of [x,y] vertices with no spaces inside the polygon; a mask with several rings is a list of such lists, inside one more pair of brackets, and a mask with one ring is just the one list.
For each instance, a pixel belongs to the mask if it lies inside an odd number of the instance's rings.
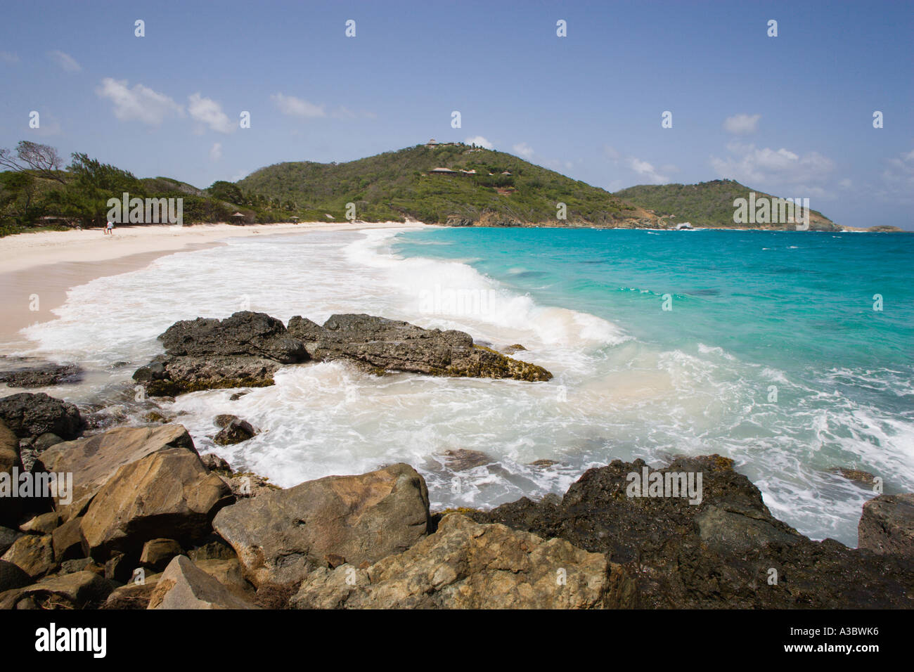
{"label": "blue sky with scattered small white clouds above the hills", "polygon": [[475,140],[610,190],[731,177],[914,229],[912,35],[900,1],[35,0],[0,24],[0,146],[207,187]]}

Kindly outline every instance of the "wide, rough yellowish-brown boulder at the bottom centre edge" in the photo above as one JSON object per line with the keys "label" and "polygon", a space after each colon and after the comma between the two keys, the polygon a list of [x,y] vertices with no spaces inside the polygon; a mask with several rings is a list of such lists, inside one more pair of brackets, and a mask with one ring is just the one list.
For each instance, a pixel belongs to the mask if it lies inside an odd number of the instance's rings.
{"label": "wide, rough yellowish-brown boulder at the bottom centre edge", "polygon": [[[611,576],[612,574],[612,576]],[[375,609],[591,609],[632,581],[602,553],[460,514],[412,548],[367,570],[308,575],[292,606]]]}

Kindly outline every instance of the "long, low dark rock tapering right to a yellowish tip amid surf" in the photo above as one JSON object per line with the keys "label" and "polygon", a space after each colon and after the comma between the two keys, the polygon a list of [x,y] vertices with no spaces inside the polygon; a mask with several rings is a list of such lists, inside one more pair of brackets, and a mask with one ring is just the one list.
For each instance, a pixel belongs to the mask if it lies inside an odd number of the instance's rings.
{"label": "long, low dark rock tapering right to a yellowish tip amid surf", "polygon": [[296,315],[289,333],[319,361],[345,359],[382,373],[408,371],[433,376],[548,380],[545,368],[473,344],[462,331],[423,329],[372,315],[331,315],[323,326]]}

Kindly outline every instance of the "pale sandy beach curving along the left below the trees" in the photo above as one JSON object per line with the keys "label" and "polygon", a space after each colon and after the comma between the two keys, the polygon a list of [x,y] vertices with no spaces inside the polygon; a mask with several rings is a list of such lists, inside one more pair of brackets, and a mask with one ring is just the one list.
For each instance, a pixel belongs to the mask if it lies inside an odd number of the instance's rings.
{"label": "pale sandy beach curving along the left below the trees", "polygon": [[102,229],[39,231],[0,238],[0,344],[22,347],[18,332],[54,319],[71,287],[95,278],[136,271],[167,254],[202,250],[228,238],[309,231],[386,229],[422,226],[400,222],[301,222],[299,224],[197,224],[122,226],[107,236]]}

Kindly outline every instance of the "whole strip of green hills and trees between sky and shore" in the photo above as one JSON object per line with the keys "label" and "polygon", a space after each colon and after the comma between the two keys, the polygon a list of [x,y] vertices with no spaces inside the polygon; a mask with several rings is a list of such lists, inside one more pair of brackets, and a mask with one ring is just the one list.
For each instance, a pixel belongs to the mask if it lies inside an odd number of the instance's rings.
{"label": "whole strip of green hills and trees between sky and shore", "polygon": [[[70,165],[54,147],[27,141],[0,150],[0,235],[99,226],[107,200],[181,197],[184,222],[421,221],[459,227],[785,229],[738,224],[734,200],[771,195],[734,180],[641,185],[610,193],[515,155],[434,140],[341,164],[286,162],[206,189],[169,177],[138,178],[85,154]],[[810,230],[855,229],[810,210]]]}

